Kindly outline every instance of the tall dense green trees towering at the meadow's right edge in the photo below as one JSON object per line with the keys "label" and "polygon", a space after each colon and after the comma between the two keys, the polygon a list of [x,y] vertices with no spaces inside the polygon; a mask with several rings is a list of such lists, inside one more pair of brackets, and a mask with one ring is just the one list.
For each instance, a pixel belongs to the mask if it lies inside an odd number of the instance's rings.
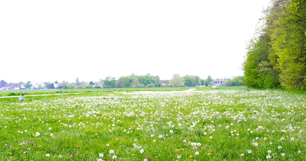
{"label": "tall dense green trees towering at the meadow's right edge", "polygon": [[305,90],[306,0],[272,0],[247,46],[245,85]]}

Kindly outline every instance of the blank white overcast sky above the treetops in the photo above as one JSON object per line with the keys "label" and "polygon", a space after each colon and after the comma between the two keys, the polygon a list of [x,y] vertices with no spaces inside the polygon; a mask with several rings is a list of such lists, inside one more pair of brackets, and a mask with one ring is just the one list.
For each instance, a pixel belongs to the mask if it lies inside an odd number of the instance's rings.
{"label": "blank white overcast sky above the treetops", "polygon": [[269,0],[0,1],[0,80],[243,75]]}

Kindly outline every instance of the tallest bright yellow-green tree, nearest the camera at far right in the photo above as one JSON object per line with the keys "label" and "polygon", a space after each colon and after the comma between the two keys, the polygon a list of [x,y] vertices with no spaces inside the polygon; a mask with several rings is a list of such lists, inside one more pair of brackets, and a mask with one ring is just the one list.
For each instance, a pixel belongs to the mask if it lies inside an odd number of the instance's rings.
{"label": "tallest bright yellow-green tree, nearest the camera at far right", "polygon": [[[271,48],[277,59],[280,84],[288,90],[306,87],[306,1],[274,1],[270,22]],[[276,16],[275,16],[276,15]]]}

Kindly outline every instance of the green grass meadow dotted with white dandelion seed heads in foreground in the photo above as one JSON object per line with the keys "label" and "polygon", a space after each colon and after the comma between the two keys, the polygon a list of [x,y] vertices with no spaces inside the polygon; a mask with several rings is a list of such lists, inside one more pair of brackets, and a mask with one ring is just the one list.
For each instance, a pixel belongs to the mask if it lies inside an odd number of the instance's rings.
{"label": "green grass meadow dotted with white dandelion seed heads in foreground", "polygon": [[306,160],[305,99],[274,90],[0,98],[0,160]]}

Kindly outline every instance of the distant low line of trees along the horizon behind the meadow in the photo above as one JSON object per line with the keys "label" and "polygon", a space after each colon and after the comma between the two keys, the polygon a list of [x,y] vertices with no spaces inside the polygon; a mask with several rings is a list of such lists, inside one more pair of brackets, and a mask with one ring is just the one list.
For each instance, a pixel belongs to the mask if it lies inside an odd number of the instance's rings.
{"label": "distant low line of trees along the horizon behind the meadow", "polygon": [[[4,82],[2,80],[0,83]],[[21,82],[25,88],[31,87],[31,82]],[[170,87],[192,87],[192,86],[208,86],[213,85],[214,79],[208,75],[207,79],[201,79],[200,76],[194,75],[185,75],[180,76],[179,74],[174,74],[172,79],[161,81],[159,76],[150,75],[150,73],[146,75],[128,75],[121,76],[120,78],[115,78],[112,76],[107,76],[105,79],[100,79],[99,82],[84,82],[79,81],[79,78],[76,78],[75,82],[69,83],[68,81],[54,81],[47,82],[43,85],[39,85],[38,89],[75,89],[75,88],[141,88],[141,87],[162,87],[162,86],[170,86]],[[244,77],[237,76],[234,77],[233,80],[228,80],[225,85],[227,86],[243,86],[244,85]]]}

